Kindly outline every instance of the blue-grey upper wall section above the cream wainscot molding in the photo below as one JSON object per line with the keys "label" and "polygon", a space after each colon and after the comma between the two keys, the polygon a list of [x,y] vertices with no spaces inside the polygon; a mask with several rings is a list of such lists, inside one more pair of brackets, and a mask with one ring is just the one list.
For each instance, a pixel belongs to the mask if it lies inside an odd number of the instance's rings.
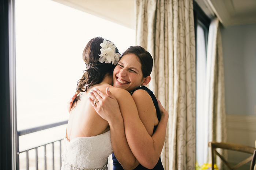
{"label": "blue-grey upper wall section above the cream wainscot molding", "polygon": [[256,24],[221,29],[226,113],[256,115]]}

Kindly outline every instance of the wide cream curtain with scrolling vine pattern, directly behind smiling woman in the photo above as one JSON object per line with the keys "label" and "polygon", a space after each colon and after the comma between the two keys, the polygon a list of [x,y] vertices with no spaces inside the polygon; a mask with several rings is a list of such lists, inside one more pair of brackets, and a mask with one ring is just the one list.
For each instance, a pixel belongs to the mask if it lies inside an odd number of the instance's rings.
{"label": "wide cream curtain with scrolling vine pattern, directly behind smiling woman", "polygon": [[196,63],[192,0],[136,0],[136,44],[154,58],[149,88],[169,112],[163,166],[195,169]]}

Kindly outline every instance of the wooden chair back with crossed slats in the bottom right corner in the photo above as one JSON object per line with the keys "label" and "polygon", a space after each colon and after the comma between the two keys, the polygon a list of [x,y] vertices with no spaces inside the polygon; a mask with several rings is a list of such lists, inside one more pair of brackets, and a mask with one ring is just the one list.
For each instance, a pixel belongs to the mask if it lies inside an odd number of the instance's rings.
{"label": "wooden chair back with crossed slats in the bottom right corner", "polygon": [[[255,159],[256,159],[256,148],[251,146],[238,145],[234,143],[225,143],[225,142],[209,142],[208,145],[211,147],[212,170],[214,169],[214,164],[215,164],[214,153],[218,155],[223,161],[223,163],[225,163],[225,165],[229,167],[229,169],[231,170],[238,169],[239,167],[245,165],[250,161],[251,161],[250,170],[254,169]],[[240,163],[232,167],[227,162],[227,160],[221,154],[218,153],[218,151],[216,150],[217,148],[249,153],[249,154],[252,154],[252,156],[250,156],[249,158],[245,159],[244,161],[241,161]]]}

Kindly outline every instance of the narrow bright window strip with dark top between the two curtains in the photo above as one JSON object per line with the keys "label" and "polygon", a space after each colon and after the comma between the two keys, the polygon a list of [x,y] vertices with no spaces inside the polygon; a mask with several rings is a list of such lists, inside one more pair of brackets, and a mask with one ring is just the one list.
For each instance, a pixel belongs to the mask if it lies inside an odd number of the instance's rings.
{"label": "narrow bright window strip with dark top between the two curtains", "polygon": [[205,143],[207,143],[207,123],[205,111],[205,89],[206,89],[206,54],[207,37],[210,19],[194,2],[194,19],[196,34],[196,162],[199,166],[207,163],[205,155]]}

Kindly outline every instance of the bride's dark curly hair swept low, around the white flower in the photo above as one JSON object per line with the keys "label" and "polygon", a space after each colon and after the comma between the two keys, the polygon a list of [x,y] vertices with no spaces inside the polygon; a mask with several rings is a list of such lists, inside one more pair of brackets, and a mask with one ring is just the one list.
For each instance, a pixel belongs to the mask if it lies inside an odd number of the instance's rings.
{"label": "bride's dark curly hair swept low, around the white flower", "polygon": [[[99,62],[100,44],[103,43],[103,40],[102,37],[95,37],[86,44],[83,50],[83,60],[87,69],[84,70],[82,78],[77,82],[76,94],[85,92],[89,87],[101,83],[106,74],[113,74],[116,65]],[[119,53],[117,48],[116,53]]]}

